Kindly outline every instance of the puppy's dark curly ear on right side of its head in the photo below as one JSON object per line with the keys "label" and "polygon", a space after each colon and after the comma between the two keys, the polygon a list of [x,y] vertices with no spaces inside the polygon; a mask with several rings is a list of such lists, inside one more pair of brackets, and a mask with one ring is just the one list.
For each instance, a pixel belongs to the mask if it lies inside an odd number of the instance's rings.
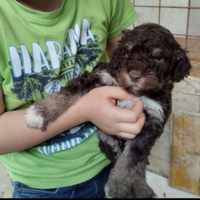
{"label": "puppy's dark curly ear on right side of its head", "polygon": [[174,82],[180,82],[190,74],[192,66],[186,53],[187,52],[183,49],[174,51],[174,69],[172,72],[172,79]]}

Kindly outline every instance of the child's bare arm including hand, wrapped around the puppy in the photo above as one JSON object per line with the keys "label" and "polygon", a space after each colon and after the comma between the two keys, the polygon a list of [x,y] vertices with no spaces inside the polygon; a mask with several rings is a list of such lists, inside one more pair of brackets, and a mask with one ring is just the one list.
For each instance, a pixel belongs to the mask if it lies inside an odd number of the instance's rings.
{"label": "child's bare arm including hand, wrapped around the puppy", "polygon": [[135,105],[131,111],[115,106],[113,98],[132,99],[119,87],[93,89],[49,123],[44,132],[27,128],[24,122],[26,110],[3,113],[0,116],[0,155],[30,148],[88,120],[109,134],[134,138],[144,124],[145,117],[140,116],[142,104]]}

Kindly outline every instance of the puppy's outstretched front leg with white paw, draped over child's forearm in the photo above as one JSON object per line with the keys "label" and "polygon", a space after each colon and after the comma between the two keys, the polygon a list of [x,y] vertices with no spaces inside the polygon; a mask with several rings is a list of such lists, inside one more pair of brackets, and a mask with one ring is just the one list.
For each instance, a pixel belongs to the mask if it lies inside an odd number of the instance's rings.
{"label": "puppy's outstretched front leg with white paw, draped over child's forearm", "polygon": [[[106,67],[106,64],[102,65]],[[90,90],[103,85],[116,85],[115,79],[106,70],[98,70],[102,65],[98,65],[97,69],[91,73],[86,71],[81,76],[72,79],[59,92],[54,92],[46,99],[28,108],[25,114],[27,126],[44,131],[48,122],[56,119],[65,109]]]}

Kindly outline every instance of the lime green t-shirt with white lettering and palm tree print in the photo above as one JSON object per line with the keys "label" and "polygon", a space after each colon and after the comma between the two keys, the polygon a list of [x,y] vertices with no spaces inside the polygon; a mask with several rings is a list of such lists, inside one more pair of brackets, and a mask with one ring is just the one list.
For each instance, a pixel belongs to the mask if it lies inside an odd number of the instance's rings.
{"label": "lime green t-shirt with white lettering and palm tree print", "polygon": [[[53,12],[1,1],[0,84],[6,111],[25,109],[85,70],[92,71],[98,62],[106,62],[107,39],[118,36],[136,18],[130,0],[64,0]],[[109,163],[95,132],[92,123],[81,124],[1,159],[14,181],[30,187],[78,184]]]}

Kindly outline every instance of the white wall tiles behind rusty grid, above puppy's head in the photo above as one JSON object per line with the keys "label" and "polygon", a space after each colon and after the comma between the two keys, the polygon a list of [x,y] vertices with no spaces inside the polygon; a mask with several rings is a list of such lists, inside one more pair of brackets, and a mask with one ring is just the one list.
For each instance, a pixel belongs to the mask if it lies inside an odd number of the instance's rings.
{"label": "white wall tiles behind rusty grid, above puppy's head", "polygon": [[[159,23],[159,8],[151,7],[159,6],[159,3],[161,4],[160,24],[174,34],[186,34],[189,0],[135,0],[135,9],[138,12],[136,25],[146,22]],[[145,7],[137,7],[137,5]],[[171,8],[163,8],[162,6],[170,6]],[[190,9],[187,33],[188,35],[200,36],[200,0],[191,0],[190,7],[198,9]]]}

